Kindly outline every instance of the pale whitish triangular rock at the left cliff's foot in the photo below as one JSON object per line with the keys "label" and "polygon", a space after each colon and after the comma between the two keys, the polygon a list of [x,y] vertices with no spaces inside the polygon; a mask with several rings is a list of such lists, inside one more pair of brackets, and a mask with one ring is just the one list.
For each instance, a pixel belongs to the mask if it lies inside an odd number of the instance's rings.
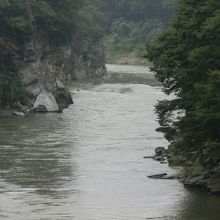
{"label": "pale whitish triangular rock at the left cliff's foot", "polygon": [[39,111],[42,107],[48,112],[57,112],[59,110],[55,97],[46,90],[40,92],[34,103],[34,110]]}

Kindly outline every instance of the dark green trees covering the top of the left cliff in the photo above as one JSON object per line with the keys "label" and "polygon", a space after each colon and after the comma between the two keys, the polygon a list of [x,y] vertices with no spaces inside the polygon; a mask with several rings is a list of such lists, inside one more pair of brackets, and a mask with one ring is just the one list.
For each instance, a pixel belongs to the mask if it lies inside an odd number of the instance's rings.
{"label": "dark green trees covering the top of the left cliff", "polygon": [[100,40],[100,16],[87,0],[0,0],[0,105],[28,96],[18,74],[28,42],[42,39],[59,53],[73,38]]}

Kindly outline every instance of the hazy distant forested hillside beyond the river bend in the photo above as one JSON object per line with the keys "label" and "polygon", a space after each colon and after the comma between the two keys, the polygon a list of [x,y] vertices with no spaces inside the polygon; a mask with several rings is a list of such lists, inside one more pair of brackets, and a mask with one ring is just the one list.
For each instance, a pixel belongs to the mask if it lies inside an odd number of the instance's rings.
{"label": "hazy distant forested hillside beyond the river bend", "polygon": [[106,17],[107,61],[143,57],[145,44],[168,26],[176,0],[92,0]]}

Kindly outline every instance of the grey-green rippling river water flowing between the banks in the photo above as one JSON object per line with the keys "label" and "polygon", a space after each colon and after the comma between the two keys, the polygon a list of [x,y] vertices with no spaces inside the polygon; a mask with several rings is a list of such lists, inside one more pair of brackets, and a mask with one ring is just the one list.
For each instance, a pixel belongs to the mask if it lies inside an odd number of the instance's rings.
{"label": "grey-green rippling river water flowing between the banks", "polygon": [[219,220],[220,199],[147,175],[166,146],[154,114],[165,98],[143,66],[72,85],[63,114],[0,118],[0,220]]}

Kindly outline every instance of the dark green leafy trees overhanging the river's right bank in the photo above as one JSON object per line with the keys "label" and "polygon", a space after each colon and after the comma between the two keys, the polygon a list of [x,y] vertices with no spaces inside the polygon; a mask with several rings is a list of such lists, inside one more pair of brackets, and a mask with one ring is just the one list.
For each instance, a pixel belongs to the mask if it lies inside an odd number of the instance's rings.
{"label": "dark green leafy trees overhanging the river's right bank", "polygon": [[175,94],[156,106],[158,131],[191,172],[220,165],[219,42],[220,2],[179,0],[172,26],[148,47],[165,93]]}

